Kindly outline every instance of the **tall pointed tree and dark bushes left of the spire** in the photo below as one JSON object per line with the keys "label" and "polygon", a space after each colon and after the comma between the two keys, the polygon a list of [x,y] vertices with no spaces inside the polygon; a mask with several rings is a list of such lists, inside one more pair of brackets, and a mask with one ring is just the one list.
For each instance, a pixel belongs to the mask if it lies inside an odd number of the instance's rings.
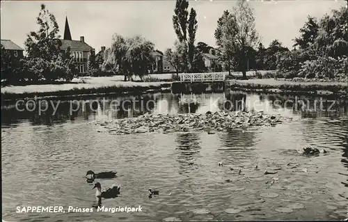
{"label": "tall pointed tree and dark bushes left of the spire", "polygon": [[40,6],[36,23],[40,29],[27,35],[24,58],[12,58],[1,45],[1,84],[71,81],[77,75],[77,65],[70,49],[61,50],[56,18],[44,4]]}

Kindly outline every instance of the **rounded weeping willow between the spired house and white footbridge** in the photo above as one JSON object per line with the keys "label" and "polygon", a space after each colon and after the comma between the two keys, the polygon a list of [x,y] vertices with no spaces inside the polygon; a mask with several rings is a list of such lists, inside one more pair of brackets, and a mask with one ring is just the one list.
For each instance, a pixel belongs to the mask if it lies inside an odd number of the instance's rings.
{"label": "rounded weeping willow between the spired house and white footbridge", "polygon": [[141,36],[124,38],[114,34],[111,47],[104,53],[102,70],[113,74],[124,75],[124,81],[132,80],[132,76],[141,79],[155,61],[152,53],[155,45]]}

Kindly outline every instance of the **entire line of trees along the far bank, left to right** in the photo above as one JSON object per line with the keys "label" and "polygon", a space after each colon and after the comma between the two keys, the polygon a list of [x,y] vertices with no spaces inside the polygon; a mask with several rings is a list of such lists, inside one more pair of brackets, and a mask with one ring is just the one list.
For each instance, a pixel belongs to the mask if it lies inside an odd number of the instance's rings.
{"label": "entire line of trees along the far bank, left to right", "polygon": [[[56,18],[44,4],[40,7],[36,19],[40,29],[27,35],[26,56],[11,58],[1,46],[1,82],[71,81],[79,75],[70,49],[61,50]],[[177,40],[164,53],[157,51],[177,73],[239,71],[246,78],[247,70],[276,70],[276,77],[285,78],[347,77],[347,7],[333,10],[319,20],[308,16],[291,50],[277,39],[268,47],[260,43],[253,9],[246,0],[237,1],[218,19],[215,48],[205,42],[196,44],[197,13],[189,8],[189,1],[176,1],[172,21]],[[150,40],[115,33],[102,56],[90,54],[88,74],[122,74],[125,81],[134,75],[143,78],[155,63],[154,51],[155,44]],[[203,59],[206,53],[218,58],[208,68]]]}

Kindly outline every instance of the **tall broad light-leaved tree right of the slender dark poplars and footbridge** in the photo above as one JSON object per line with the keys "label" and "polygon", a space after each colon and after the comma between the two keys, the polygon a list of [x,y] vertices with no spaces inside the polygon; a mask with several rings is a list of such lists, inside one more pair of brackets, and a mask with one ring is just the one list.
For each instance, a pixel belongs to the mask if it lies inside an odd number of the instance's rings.
{"label": "tall broad light-leaved tree right of the slender dark poplars and footbridge", "polygon": [[221,47],[223,59],[230,63],[231,55],[237,56],[243,77],[246,79],[248,49],[258,43],[253,10],[246,0],[239,0],[232,13],[223,12],[223,16],[218,20],[215,37],[217,45]]}

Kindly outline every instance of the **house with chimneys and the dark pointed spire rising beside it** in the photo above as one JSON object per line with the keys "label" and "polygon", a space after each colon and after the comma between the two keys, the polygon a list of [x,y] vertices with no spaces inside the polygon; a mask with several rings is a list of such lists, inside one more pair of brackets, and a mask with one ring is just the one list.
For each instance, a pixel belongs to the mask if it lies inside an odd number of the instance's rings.
{"label": "house with chimneys and the dark pointed spire rising beside it", "polygon": [[75,61],[77,62],[77,69],[79,70],[79,73],[85,74],[88,71],[88,59],[90,54],[95,54],[95,50],[85,42],[84,36],[81,36],[80,40],[72,40],[68,17],[65,17],[64,38],[61,40],[61,42],[61,49],[65,50],[70,47],[72,57],[74,57]]}

